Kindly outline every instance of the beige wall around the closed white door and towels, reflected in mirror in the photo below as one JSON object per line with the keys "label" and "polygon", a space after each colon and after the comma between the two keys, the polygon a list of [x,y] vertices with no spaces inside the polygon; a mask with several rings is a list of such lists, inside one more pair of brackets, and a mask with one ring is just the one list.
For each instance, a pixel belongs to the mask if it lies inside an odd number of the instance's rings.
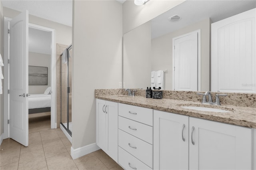
{"label": "beige wall around the closed white door and towels, reflected in mirror", "polygon": [[172,38],[201,29],[201,91],[210,88],[210,18],[152,39],[152,70],[165,70],[164,87],[172,89]]}

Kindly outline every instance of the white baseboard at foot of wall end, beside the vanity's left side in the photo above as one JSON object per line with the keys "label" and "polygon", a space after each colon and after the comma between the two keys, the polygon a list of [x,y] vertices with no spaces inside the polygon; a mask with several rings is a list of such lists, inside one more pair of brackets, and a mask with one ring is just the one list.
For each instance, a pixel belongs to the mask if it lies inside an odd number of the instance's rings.
{"label": "white baseboard at foot of wall end, beside the vanity's left side", "polygon": [[96,145],[96,143],[88,144],[86,146],[83,146],[81,148],[74,149],[71,146],[70,154],[73,159],[79,158],[81,156],[84,156],[86,154],[90,154],[91,152],[94,152],[96,150],[99,150],[99,146]]}

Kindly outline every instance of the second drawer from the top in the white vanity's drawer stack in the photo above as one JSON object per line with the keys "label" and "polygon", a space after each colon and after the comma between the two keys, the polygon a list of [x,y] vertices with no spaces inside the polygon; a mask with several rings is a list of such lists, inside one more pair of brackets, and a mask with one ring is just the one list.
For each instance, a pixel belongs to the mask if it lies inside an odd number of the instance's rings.
{"label": "second drawer from the top in the white vanity's drawer stack", "polygon": [[153,127],[118,116],[118,128],[153,144]]}

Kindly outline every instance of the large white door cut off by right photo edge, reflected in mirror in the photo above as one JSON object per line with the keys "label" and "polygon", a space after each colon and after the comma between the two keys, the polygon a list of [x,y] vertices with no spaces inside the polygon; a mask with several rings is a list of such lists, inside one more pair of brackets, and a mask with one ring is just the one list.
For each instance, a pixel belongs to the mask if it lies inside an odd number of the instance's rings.
{"label": "large white door cut off by right photo edge, reflected in mirror", "polygon": [[256,8],[212,24],[212,91],[256,93]]}

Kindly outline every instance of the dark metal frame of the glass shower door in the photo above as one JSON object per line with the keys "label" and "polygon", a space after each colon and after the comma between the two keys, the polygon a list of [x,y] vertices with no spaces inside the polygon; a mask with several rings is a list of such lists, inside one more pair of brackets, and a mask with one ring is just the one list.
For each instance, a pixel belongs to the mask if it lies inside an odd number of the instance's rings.
{"label": "dark metal frame of the glass shower door", "polygon": [[[67,52],[68,52],[68,57],[67,57],[67,84],[68,84],[68,89],[67,89],[67,127],[65,127],[62,123],[62,109],[60,109],[60,124],[62,125],[62,127],[68,132],[68,134],[72,137],[72,132],[69,129],[69,94],[70,94],[70,86],[69,86],[69,50],[72,49],[72,44],[70,44],[67,47]],[[62,54],[61,54],[62,56]],[[61,65],[62,65],[62,61],[61,61]],[[62,66],[60,66],[60,68],[62,68]],[[60,71],[60,74],[62,74],[62,71]],[[62,75],[60,75],[60,83],[62,83]],[[72,82],[71,82],[72,83]],[[60,99],[62,99],[62,85],[60,85]],[[60,108],[62,108],[62,102],[60,101]]]}

